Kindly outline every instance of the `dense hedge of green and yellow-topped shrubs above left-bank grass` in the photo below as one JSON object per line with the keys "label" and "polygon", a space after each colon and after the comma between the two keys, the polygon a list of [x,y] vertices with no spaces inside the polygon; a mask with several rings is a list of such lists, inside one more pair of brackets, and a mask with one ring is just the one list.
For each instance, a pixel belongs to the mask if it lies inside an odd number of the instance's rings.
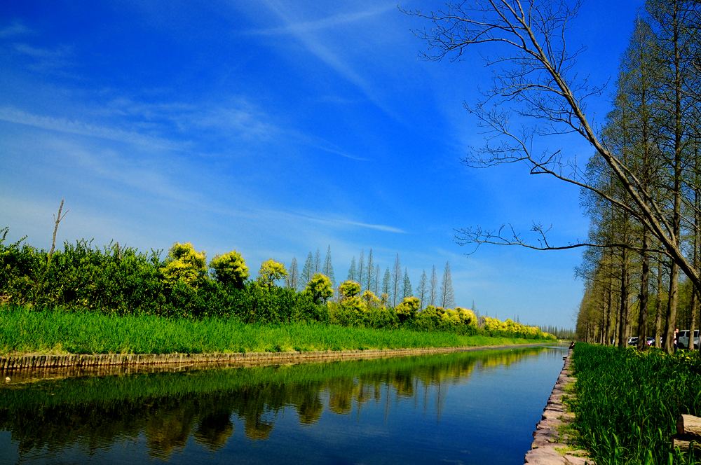
{"label": "dense hedge of green and yellow-topped shrubs above left-bank grass", "polygon": [[[0,304],[62,307],[106,314],[158,314],[165,317],[233,317],[247,323],[321,321],[343,326],[412,328],[475,334],[543,338],[521,324],[484,326],[471,311],[421,305],[407,296],[390,305],[387,296],[362,290],[346,280],[334,290],[331,279],[315,273],[297,291],[283,285],[290,275],[283,263],[261,264],[250,279],[238,251],[207,262],[192,244],[176,243],[161,260],[118,243],[97,249],[85,240],[66,242],[62,250],[34,249],[22,240],[5,244],[0,230]],[[330,300],[337,291],[337,298]]]}

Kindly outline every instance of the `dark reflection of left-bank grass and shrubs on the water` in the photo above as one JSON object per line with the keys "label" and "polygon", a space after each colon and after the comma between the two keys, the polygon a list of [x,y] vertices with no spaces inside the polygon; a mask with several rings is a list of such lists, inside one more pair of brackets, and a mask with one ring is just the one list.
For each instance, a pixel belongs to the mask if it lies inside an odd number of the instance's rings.
{"label": "dark reflection of left-bank grass and shrubs on the water", "polygon": [[[0,387],[0,431],[10,433],[15,457],[25,462],[33,461],[32,457],[34,461],[41,461],[37,457],[60,458],[62,451],[76,447],[90,460],[124,444],[138,445],[143,449],[139,453],[163,461],[185,461],[178,453],[193,443],[200,452],[217,457],[233,442],[268,440],[278,422],[280,428],[290,431],[280,434],[287,440],[304,434],[330,434],[332,419],[325,431],[311,433],[308,429],[317,427],[324,415],[359,418],[365,405],[374,405],[376,415],[383,415],[378,424],[385,426],[391,423],[389,415],[404,417],[402,399],[408,400],[412,409],[431,410],[440,419],[451,386],[470,384],[476,369],[508,370],[543,352],[550,352],[550,359],[562,355],[559,350],[533,347],[8,385]],[[544,402],[538,412],[542,405]],[[365,415],[372,423],[374,414]],[[367,428],[372,429],[372,425]],[[239,429],[243,436],[234,441]],[[280,447],[289,444],[280,443]],[[266,462],[285,461],[285,453]],[[319,461],[336,459],[329,455]],[[218,460],[226,461],[223,455]]]}

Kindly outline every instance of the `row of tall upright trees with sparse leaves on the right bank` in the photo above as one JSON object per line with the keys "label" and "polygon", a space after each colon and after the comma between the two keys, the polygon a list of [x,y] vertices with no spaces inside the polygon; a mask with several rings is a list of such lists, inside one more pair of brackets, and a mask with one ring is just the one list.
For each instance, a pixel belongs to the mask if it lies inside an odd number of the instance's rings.
{"label": "row of tall upright trees with sparse leaves on the right bank", "polygon": [[701,4],[646,7],[601,133],[620,161],[587,166],[597,189],[583,195],[594,246],[578,270],[586,286],[577,330],[620,346],[639,335],[641,349],[646,336],[663,335],[672,349],[674,328],[699,322]]}

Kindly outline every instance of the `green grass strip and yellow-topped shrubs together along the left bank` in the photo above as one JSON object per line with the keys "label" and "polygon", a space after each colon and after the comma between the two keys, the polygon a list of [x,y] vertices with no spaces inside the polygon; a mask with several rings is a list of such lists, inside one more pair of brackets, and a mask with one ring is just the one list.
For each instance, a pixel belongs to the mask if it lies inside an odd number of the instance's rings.
{"label": "green grass strip and yellow-topped shrubs together along the left bank", "polygon": [[[207,263],[189,243],[161,258],[86,240],[45,251],[0,230],[0,353],[163,354],[503,345],[554,340],[536,326],[404,296],[390,305],[352,279],[318,272],[278,285],[283,263],[250,279],[230,251]],[[498,338],[496,340],[491,338]]]}

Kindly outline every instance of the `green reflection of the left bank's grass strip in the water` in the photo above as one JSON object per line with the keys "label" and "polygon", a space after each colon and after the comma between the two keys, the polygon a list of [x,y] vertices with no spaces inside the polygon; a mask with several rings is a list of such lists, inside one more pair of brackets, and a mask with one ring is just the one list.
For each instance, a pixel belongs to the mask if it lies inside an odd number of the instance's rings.
{"label": "green reflection of the left bank's grass strip in the water", "polygon": [[184,373],[151,373],[109,377],[84,377],[48,380],[0,387],[0,412],[13,408],[128,401],[139,403],[146,398],[169,395],[207,394],[259,384],[319,384],[326,380],[353,378],[387,378],[390,374],[411,373],[429,384],[458,380],[475,361],[494,366],[510,364],[540,352],[542,348],[494,349],[484,352],[457,352],[431,356],[408,356],[299,365],[261,366],[193,370]]}

